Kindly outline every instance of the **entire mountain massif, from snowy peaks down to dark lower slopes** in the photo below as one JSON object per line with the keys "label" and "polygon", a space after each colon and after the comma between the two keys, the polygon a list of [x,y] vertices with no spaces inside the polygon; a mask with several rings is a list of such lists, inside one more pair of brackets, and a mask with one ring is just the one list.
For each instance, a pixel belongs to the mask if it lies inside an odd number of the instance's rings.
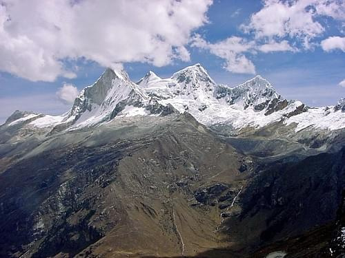
{"label": "entire mountain massif, from snowy peaks down to dark lower slopes", "polygon": [[[320,115],[335,128],[301,129],[286,121],[320,109],[260,76],[230,88],[195,65],[134,84],[108,69],[68,114],[0,127],[0,257],[342,255],[341,107]],[[225,109],[279,119],[204,122]]]}

